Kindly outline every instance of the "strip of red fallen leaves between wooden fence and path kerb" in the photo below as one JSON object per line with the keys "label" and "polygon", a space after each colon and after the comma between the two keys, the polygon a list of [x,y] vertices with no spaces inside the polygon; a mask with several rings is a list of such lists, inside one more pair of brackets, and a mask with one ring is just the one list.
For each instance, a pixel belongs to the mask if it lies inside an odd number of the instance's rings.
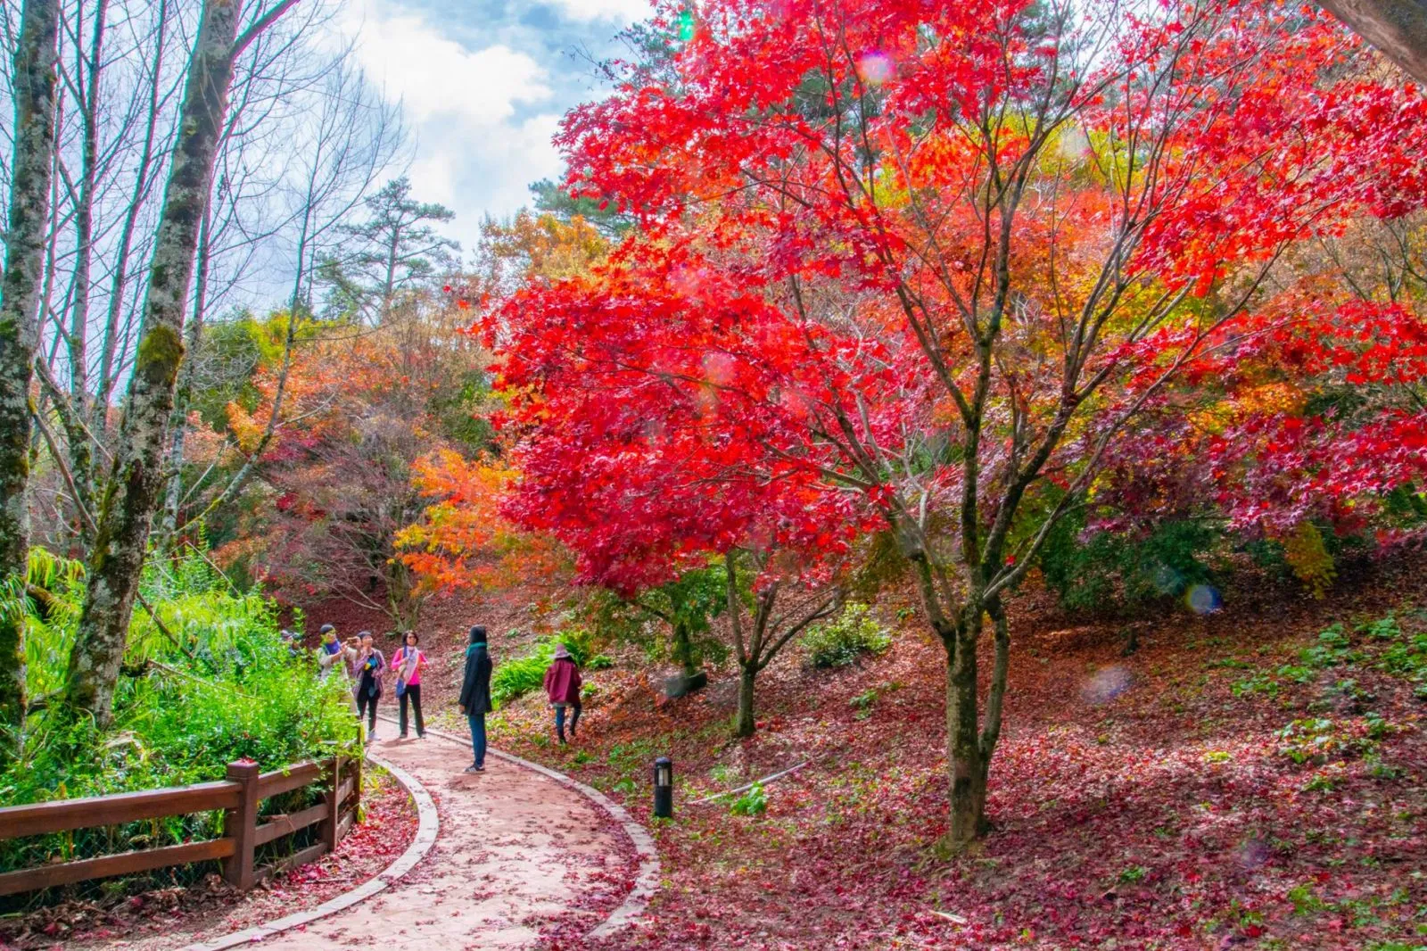
{"label": "strip of red fallen leaves between wooden fence and path kerb", "polygon": [[66,901],[0,925],[0,948],[160,951],[314,908],[390,865],[417,832],[417,810],[395,780],[368,770],[365,821],[331,855],[264,882],[245,897],[217,875],[101,901]]}

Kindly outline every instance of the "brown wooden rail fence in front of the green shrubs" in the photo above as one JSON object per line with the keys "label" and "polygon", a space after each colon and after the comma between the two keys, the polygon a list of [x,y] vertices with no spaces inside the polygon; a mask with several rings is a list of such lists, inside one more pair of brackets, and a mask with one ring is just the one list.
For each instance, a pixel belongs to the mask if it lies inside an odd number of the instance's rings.
{"label": "brown wooden rail fence in front of the green shrubs", "polygon": [[[273,795],[323,784],[323,801],[291,815],[268,815],[258,825],[258,804]],[[118,825],[190,812],[223,810],[223,838],[100,855],[71,862],[0,874],[0,895],[68,885],[93,878],[221,860],[223,877],[247,891],[267,875],[310,862],[337,848],[357,818],[361,802],[361,760],[331,758],[258,773],[255,763],[228,764],[227,780],[167,790],[56,800],[0,808],[0,840]],[[281,861],[254,868],[258,845],[321,822],[321,840]]]}

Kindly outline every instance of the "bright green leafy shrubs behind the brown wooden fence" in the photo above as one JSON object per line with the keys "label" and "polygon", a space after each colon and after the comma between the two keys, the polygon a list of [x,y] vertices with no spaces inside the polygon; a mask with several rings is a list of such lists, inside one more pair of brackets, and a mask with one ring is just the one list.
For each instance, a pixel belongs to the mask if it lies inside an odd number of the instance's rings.
{"label": "bright green leafy shrubs behind the brown wooden fence", "polygon": [[[27,688],[33,698],[49,698],[64,684],[83,570],[36,550],[30,584],[46,594],[21,604]],[[17,760],[0,771],[0,805],[205,783],[221,780],[240,758],[274,770],[352,750],[347,684],[320,681],[315,658],[290,654],[275,608],[260,591],[235,591],[190,557],[150,568],[143,593],[167,633],[146,611],[134,613],[113,725],[100,730],[59,704],[41,704],[26,723]],[[270,800],[264,811],[293,805]],[[9,840],[0,842],[0,868],[211,838],[221,820],[205,812]]]}

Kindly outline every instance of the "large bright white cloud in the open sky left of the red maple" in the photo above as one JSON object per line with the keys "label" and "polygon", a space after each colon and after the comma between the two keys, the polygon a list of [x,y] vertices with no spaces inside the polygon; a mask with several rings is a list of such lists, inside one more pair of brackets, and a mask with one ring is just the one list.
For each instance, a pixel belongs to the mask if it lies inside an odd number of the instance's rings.
{"label": "large bright white cloud in the open sky left of the red maple", "polygon": [[464,247],[475,244],[487,213],[509,214],[528,201],[528,183],[559,174],[549,141],[559,116],[517,119],[555,106],[549,76],[534,57],[501,44],[468,50],[392,0],[350,3],[341,26],[357,40],[371,80],[404,106],[417,140],[412,193],[457,213],[450,233]]}

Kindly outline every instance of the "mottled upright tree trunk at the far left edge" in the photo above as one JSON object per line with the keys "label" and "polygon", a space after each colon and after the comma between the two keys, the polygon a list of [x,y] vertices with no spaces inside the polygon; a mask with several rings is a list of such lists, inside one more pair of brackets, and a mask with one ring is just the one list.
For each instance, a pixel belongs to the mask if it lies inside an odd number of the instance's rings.
{"label": "mottled upright tree trunk at the far left edge", "polygon": [[10,230],[0,291],[0,743],[9,758],[24,725],[24,598],[30,524],[30,381],[54,156],[59,0],[26,0],[14,53]]}

